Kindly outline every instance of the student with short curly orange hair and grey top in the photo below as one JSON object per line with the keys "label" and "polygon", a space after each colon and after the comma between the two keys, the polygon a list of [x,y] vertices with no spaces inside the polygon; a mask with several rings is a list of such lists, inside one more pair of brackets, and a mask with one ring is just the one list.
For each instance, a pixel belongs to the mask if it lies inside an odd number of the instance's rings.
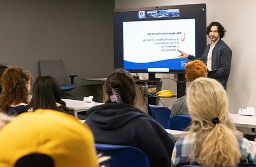
{"label": "student with short curly orange hair and grey top", "polygon": [[[185,77],[188,82],[192,82],[196,78],[206,77],[207,67],[201,60],[192,60],[186,63]],[[186,95],[173,101],[171,107],[171,116],[188,114],[188,107],[186,104]]]}

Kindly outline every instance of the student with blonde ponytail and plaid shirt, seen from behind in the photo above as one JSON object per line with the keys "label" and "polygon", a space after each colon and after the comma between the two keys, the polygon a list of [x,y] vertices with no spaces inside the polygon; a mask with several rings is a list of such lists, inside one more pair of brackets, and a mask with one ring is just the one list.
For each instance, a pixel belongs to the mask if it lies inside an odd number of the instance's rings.
{"label": "student with blonde ponytail and plaid shirt, seen from behind", "polygon": [[228,115],[228,99],[215,79],[198,78],[187,92],[192,124],[189,134],[176,141],[172,166],[256,165],[253,145],[235,129]]}

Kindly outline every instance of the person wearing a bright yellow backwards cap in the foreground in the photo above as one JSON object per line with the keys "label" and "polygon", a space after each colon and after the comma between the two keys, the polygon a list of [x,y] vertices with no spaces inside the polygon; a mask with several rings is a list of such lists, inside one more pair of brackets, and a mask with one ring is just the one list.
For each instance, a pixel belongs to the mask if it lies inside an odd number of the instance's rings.
{"label": "person wearing a bright yellow backwards cap in the foreground", "polygon": [[1,167],[99,166],[88,126],[54,110],[18,115],[0,130],[0,148]]}

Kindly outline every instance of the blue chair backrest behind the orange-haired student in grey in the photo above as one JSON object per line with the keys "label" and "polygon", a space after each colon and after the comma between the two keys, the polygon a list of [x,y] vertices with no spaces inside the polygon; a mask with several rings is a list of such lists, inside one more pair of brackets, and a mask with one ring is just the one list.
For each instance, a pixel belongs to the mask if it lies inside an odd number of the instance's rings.
{"label": "blue chair backrest behind the orange-haired student in grey", "polygon": [[174,115],[169,120],[169,129],[185,130],[191,124],[190,115]]}

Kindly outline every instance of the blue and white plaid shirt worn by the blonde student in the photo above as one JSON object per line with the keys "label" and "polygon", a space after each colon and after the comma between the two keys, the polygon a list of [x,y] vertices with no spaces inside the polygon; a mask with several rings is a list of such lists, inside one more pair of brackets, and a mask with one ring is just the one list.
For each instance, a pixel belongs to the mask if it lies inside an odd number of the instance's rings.
{"label": "blue and white plaid shirt worn by the blonde student", "polygon": [[[240,146],[240,164],[256,164],[256,153],[252,143],[242,136],[237,137]],[[171,157],[171,166],[183,166],[190,164],[190,155],[193,154],[193,147],[195,142],[195,134],[192,135],[191,139],[189,136],[179,138],[173,149],[173,156]],[[198,164],[197,159],[193,160],[193,164]]]}

